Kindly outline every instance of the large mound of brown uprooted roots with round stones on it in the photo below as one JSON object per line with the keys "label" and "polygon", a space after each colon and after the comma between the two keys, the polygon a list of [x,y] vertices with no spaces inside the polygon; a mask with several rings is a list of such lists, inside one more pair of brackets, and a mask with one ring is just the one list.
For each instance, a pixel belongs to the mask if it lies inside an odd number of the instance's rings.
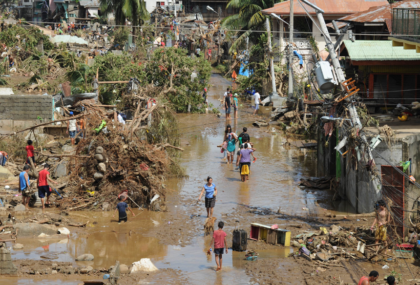
{"label": "large mound of brown uprooted roots with round stones on it", "polygon": [[[88,123],[86,138],[79,142],[67,164],[71,171],[71,194],[62,199],[60,208],[102,209],[108,204],[108,209],[113,209],[118,203],[117,195],[128,190],[135,203],[127,202],[134,208],[148,205],[149,209],[165,210],[164,182],[169,176],[182,175],[176,162],[176,152],[182,149],[165,141],[149,143],[145,134],[154,129],[153,125],[162,124],[158,117],[167,112],[166,107],[155,105],[153,110],[144,109],[143,112],[140,112],[142,107],[138,107],[133,121],[123,125],[112,121],[104,109],[88,103],[83,105]],[[150,128],[142,128],[147,126],[145,115],[148,113],[152,113],[154,121]],[[104,127],[97,133],[93,128],[100,126],[103,120],[106,130]],[[166,150],[168,147],[171,151]],[[150,204],[155,195],[159,198]]]}

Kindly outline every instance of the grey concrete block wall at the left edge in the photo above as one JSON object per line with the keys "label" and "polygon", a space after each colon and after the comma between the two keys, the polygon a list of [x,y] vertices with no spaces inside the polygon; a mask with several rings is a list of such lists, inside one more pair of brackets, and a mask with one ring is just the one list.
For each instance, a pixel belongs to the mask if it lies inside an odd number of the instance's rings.
{"label": "grey concrete block wall at the left edge", "polygon": [[44,121],[52,117],[51,95],[0,95],[1,120],[36,120]]}

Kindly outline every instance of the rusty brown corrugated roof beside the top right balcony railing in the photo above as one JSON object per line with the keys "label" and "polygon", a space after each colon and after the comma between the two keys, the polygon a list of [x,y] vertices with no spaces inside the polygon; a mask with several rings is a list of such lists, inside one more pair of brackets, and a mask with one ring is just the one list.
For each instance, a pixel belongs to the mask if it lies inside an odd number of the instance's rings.
{"label": "rusty brown corrugated roof beside the top right balcony railing", "polygon": [[353,15],[349,15],[339,20],[353,21],[353,22],[385,22],[386,19],[392,19],[391,11],[393,8],[420,8],[420,1],[409,0],[399,1],[392,4],[385,4],[382,6],[371,7],[366,11],[361,11]]}

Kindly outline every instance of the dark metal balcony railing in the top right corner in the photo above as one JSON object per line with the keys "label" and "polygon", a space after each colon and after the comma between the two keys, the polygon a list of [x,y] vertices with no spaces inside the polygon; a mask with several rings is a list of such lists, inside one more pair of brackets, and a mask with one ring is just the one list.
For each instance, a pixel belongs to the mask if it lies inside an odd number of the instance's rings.
{"label": "dark metal balcony railing in the top right corner", "polygon": [[420,36],[420,9],[392,9],[392,34]]}

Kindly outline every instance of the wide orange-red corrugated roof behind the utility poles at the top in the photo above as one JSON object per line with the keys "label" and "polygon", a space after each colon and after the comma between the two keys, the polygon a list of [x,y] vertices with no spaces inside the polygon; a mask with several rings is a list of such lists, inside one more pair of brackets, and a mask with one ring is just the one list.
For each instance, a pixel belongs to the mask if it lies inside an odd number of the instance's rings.
{"label": "wide orange-red corrugated roof behind the utility poles at the top", "polygon": [[[387,0],[310,0],[319,8],[325,11],[324,15],[349,15],[360,11],[365,11],[370,7],[383,6],[388,3]],[[306,4],[304,7],[312,15],[315,15],[315,10]],[[263,14],[270,15],[289,15],[290,1],[284,1],[274,4],[274,7],[261,11]],[[305,10],[297,1],[293,1],[294,15],[306,15]]]}

